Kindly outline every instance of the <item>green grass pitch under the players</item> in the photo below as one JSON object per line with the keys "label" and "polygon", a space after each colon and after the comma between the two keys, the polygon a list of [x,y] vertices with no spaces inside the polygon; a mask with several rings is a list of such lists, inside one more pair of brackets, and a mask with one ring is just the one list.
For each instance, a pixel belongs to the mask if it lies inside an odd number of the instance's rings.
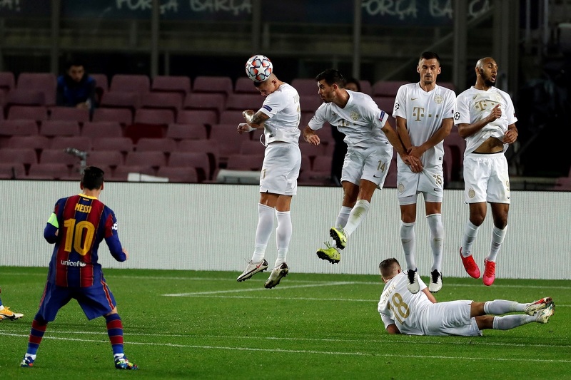
{"label": "green grass pitch under the players", "polygon": [[[19,321],[0,322],[0,373],[17,379],[565,379],[571,376],[567,281],[445,278],[439,301],[551,296],[547,325],[484,337],[408,337],[384,332],[380,278],[291,273],[275,289],[267,274],[107,269],[123,319],[125,351],[139,371],[113,368],[102,318],[76,302],[49,324],[33,368],[19,368],[45,268],[0,267],[2,300]],[[166,297],[163,294],[186,294]]]}

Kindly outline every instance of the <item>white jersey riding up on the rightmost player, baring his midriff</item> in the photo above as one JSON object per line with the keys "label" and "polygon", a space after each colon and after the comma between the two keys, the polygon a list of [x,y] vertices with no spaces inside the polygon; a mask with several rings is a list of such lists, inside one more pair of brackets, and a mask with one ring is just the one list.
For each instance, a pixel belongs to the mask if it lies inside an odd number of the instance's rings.
{"label": "white jersey riding up on the rightmost player, baring his midriff", "polygon": [[[507,132],[507,126],[515,123],[517,118],[515,117],[512,99],[499,88],[490,87],[487,91],[483,91],[472,86],[458,95],[454,114],[455,125],[472,124],[487,118],[498,104],[502,110],[502,116],[491,123],[487,123],[482,129],[466,138],[465,156],[476,150],[490,137],[501,140]],[[507,150],[507,144],[504,144],[504,152],[505,150]]]}

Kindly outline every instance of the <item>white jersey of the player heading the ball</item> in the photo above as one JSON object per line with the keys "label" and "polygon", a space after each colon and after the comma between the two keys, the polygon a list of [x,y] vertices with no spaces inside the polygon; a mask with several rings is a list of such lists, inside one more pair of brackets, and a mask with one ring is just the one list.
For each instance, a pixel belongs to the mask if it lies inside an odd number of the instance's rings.
{"label": "white jersey of the player heading the ball", "polygon": [[285,143],[299,143],[301,133],[299,120],[301,112],[299,107],[299,95],[288,83],[283,83],[276,91],[266,96],[259,112],[269,116],[263,125],[263,134],[266,145],[274,141]]}

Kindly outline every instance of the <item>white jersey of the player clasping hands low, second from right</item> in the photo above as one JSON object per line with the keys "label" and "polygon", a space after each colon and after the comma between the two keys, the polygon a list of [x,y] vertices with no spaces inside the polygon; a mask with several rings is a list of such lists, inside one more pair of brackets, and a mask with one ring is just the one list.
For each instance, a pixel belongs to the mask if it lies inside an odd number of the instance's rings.
{"label": "white jersey of the player clasping hands low, second from right", "polygon": [[[398,89],[393,117],[399,116],[406,120],[410,143],[420,146],[442,127],[445,118],[454,117],[455,101],[456,94],[448,88],[436,85],[432,91],[426,92],[420,83],[405,84]],[[423,154],[423,166],[441,166],[443,157],[444,146],[443,141],[440,141]],[[399,168],[408,168],[400,156],[397,160]]]}

